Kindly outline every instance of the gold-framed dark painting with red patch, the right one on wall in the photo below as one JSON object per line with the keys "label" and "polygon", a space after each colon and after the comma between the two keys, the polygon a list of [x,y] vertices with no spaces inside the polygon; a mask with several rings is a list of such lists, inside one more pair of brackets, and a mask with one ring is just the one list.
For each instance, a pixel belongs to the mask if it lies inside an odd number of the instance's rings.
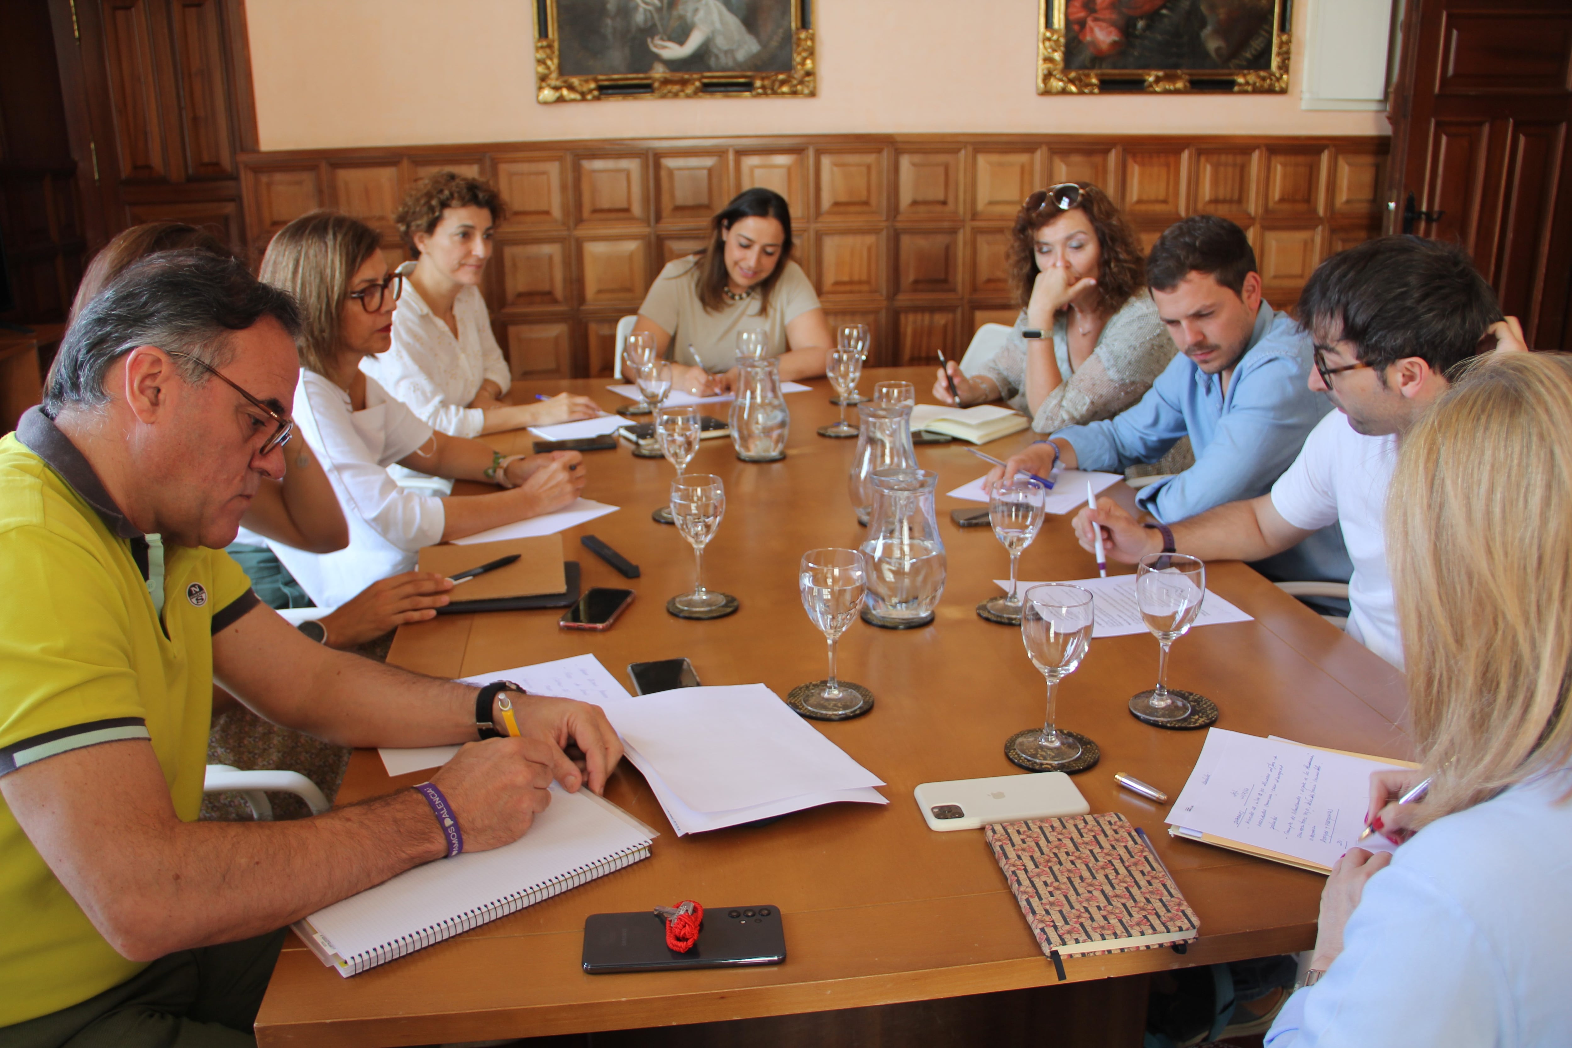
{"label": "gold-framed dark painting with red patch, the right one on wall", "polygon": [[[1287,93],[1289,0],[1038,0],[1038,94]],[[1130,13],[1130,14],[1126,14]]]}

